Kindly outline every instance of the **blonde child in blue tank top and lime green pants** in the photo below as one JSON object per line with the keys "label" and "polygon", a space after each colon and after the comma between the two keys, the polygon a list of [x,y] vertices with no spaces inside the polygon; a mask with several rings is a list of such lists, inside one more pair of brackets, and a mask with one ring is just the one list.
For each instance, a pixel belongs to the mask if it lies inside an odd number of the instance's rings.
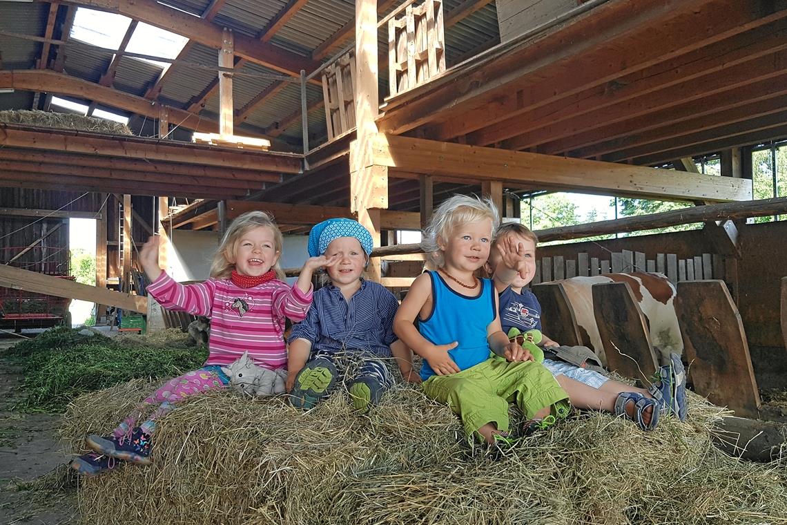
{"label": "blonde child in blue tank top and lime green pants", "polygon": [[508,341],[492,281],[475,276],[490,255],[497,217],[488,199],[455,195],[440,205],[422,242],[437,271],[412,283],[393,330],[423,357],[423,392],[460,416],[468,439],[500,444],[510,442],[510,401],[527,416],[525,431],[567,416],[569,405],[552,374]]}

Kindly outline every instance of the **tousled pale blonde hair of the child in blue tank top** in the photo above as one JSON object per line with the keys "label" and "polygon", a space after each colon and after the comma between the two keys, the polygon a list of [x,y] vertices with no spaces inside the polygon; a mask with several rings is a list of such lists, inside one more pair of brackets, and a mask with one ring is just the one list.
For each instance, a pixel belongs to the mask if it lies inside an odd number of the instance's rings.
{"label": "tousled pale blonde hair of the child in blue tank top", "polygon": [[454,229],[484,219],[492,221],[490,237],[493,237],[500,224],[500,216],[492,199],[478,198],[475,195],[454,195],[434,210],[427,228],[423,231],[421,249],[428,254],[430,262],[440,268],[445,263],[440,245],[448,242]]}

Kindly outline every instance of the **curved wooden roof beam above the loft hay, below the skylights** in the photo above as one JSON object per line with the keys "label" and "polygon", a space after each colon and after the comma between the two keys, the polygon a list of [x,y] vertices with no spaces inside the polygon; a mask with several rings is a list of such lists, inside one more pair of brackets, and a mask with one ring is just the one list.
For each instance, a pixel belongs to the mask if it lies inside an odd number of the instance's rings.
{"label": "curved wooden roof beam above the loft hay, below the skylights", "polygon": [[161,107],[166,107],[172,120],[178,121],[183,128],[206,133],[219,131],[218,124],[194,113],[170,106],[163,106],[158,102],[151,102],[134,94],[127,94],[123,91],[101,86],[88,80],[77,79],[64,73],[34,70],[2,71],[0,72],[0,87],[13,87],[13,89],[19,91],[48,91],[56,94],[87,98],[117,109],[124,109],[125,111],[139,113],[139,115],[155,119],[158,118]]}

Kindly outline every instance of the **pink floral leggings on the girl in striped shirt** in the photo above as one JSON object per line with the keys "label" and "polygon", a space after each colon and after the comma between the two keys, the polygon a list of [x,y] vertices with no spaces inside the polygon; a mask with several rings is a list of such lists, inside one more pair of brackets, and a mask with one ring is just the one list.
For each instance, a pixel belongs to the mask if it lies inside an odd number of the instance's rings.
{"label": "pink floral leggings on the girl in striped shirt", "polygon": [[120,423],[113,431],[116,438],[131,433],[133,428],[142,420],[142,414],[150,412],[150,408],[158,405],[153,409],[150,416],[147,417],[144,423],[140,425],[142,431],[146,434],[153,434],[156,428],[156,420],[164,414],[170,412],[175,408],[174,404],[183,401],[189,396],[202,394],[214,388],[224,388],[230,383],[230,379],[221,367],[216,364],[210,364],[194,372],[187,372],[175,379],[170,379],[167,383],[159,386],[158,390],[145,398],[131,414],[129,414],[123,423]]}

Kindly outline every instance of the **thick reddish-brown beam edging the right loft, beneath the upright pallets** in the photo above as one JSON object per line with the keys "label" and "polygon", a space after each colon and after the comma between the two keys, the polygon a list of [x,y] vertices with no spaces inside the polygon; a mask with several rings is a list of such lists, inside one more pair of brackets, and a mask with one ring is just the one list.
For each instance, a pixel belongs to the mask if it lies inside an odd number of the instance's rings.
{"label": "thick reddish-brown beam edging the right loft, beneath the upright pallets", "polygon": [[[787,15],[787,10],[756,0],[743,3],[695,0],[673,4],[664,0],[634,6],[607,2],[537,40],[501,44],[496,52],[461,71],[446,72],[410,94],[393,98],[380,129],[399,134],[430,121],[453,121],[449,125],[455,128],[428,136],[462,135],[574,97],[589,87],[611,83],[615,89],[622,77],[660,63],[674,68],[669,61],[682,54]],[[678,41],[680,45],[674,45]],[[684,68],[680,72],[685,76]],[[570,103],[561,105],[571,107]]]}

